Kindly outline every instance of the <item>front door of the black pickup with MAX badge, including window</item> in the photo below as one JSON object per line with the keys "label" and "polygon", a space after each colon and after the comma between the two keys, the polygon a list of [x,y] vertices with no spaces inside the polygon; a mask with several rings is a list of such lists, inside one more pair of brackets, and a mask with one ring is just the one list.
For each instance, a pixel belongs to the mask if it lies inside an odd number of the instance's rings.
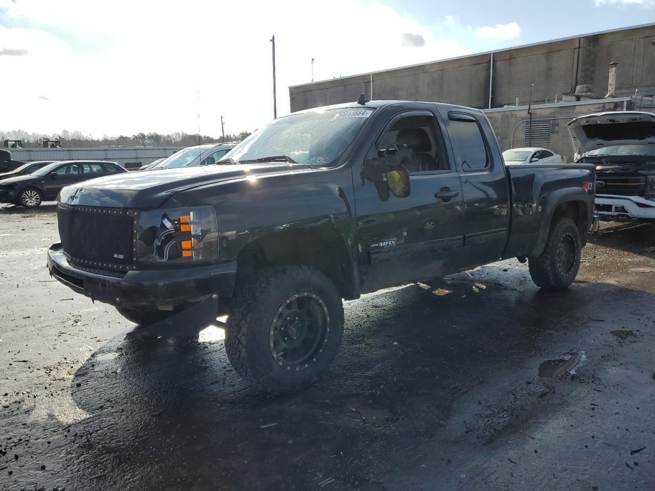
{"label": "front door of the black pickup with MAX badge, including window", "polygon": [[[430,111],[392,118],[369,151],[407,148],[409,196],[381,199],[374,183],[355,185],[362,291],[458,270],[464,236],[460,178],[446,156],[440,121]],[[358,170],[357,166],[353,167]],[[359,175],[354,179],[361,181]],[[357,182],[357,181],[356,181]],[[389,183],[393,185],[393,183]]]}

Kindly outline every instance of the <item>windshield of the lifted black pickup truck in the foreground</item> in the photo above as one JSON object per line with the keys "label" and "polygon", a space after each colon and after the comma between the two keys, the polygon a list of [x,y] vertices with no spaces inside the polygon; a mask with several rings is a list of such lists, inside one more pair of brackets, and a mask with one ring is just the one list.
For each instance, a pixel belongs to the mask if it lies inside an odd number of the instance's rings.
{"label": "windshield of the lifted black pickup truck in the foreground", "polygon": [[[327,109],[274,120],[227,156],[234,162],[286,157],[297,164],[330,166],[364,126],[372,109]],[[284,159],[272,159],[280,162]]]}

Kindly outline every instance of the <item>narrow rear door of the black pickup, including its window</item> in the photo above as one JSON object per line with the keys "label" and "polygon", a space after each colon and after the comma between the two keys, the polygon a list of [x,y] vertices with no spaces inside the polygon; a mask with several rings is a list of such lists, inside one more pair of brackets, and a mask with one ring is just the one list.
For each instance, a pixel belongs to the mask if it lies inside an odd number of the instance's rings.
{"label": "narrow rear door of the black pickup, including its window", "polygon": [[464,266],[500,259],[510,227],[510,190],[489,122],[477,111],[442,108],[464,193]]}

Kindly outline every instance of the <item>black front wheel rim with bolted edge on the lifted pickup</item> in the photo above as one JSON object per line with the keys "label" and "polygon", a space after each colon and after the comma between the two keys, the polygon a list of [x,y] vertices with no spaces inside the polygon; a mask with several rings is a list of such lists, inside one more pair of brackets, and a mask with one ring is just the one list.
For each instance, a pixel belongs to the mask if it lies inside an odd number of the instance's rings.
{"label": "black front wheel rim with bolted edge on the lifted pickup", "polygon": [[280,368],[301,371],[322,355],[329,336],[329,312],[313,293],[303,292],[286,299],[271,323],[271,355]]}

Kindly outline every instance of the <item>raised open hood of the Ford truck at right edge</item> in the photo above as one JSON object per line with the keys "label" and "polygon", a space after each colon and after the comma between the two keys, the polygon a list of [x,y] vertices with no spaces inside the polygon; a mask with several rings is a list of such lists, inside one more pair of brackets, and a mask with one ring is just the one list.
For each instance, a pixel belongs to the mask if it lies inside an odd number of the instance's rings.
{"label": "raised open hood of the Ford truck at right edge", "polygon": [[569,124],[578,155],[612,145],[655,143],[655,114],[639,111],[596,113],[575,118]]}

